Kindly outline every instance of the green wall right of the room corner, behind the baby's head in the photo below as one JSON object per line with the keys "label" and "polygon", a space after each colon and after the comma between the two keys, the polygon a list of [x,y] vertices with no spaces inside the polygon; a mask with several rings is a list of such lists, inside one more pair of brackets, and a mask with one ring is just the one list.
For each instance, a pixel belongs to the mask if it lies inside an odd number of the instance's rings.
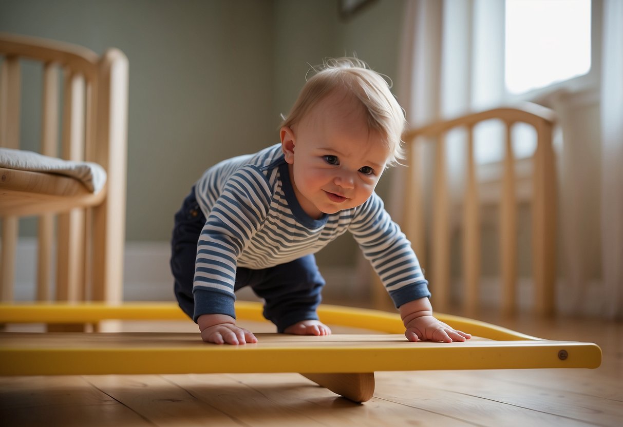
{"label": "green wall right of the room corner, behind the baby's head", "polygon": [[[379,0],[349,21],[340,21],[337,0],[275,1],[275,108],[287,113],[305,83],[309,64],[325,57],[356,54],[394,80],[398,67],[403,0]],[[377,190],[389,194],[391,171]],[[356,262],[358,248],[348,233],[316,255],[320,265]]]}

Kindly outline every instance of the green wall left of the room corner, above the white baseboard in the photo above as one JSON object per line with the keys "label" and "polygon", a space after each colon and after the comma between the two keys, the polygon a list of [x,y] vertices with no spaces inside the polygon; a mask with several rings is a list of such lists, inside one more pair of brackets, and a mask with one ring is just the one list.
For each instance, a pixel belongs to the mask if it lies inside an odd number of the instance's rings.
{"label": "green wall left of the room corner, above the white baseboard", "polygon": [[206,166],[273,140],[270,2],[2,0],[0,31],[128,56],[128,240],[168,240]]}

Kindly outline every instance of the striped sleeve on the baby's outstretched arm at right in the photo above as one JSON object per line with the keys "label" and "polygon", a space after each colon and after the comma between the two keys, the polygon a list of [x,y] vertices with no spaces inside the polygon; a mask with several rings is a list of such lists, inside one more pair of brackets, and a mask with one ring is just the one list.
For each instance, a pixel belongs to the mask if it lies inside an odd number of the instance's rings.
{"label": "striped sleeve on the baby's outstretched arm at right", "polygon": [[396,307],[415,299],[430,298],[428,281],[411,242],[392,221],[378,195],[373,194],[358,208],[349,230]]}

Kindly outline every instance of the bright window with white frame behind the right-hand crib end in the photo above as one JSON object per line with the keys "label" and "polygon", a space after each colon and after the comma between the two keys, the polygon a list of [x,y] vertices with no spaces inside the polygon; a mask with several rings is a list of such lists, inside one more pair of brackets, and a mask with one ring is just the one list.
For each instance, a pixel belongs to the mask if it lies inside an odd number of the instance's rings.
{"label": "bright window with white frame behind the right-hand crib end", "polygon": [[[591,87],[598,73],[592,65],[599,61],[598,37],[594,40],[599,6],[599,0],[476,0],[472,96],[484,102],[473,103],[474,109],[516,101],[540,103],[559,89],[579,92]],[[492,44],[496,39],[503,41]],[[533,130],[522,124],[512,131],[515,158],[531,157],[536,148]],[[504,132],[502,123],[483,123],[476,129],[479,164],[502,161],[502,144],[487,141],[503,141]]]}

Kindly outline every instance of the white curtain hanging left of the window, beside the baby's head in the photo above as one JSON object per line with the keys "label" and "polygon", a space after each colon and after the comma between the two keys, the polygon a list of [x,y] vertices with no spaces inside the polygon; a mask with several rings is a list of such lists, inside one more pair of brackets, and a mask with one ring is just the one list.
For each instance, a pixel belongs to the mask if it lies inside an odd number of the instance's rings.
{"label": "white curtain hanging left of the window, beside the baby's head", "polygon": [[[503,2],[498,0],[406,2],[397,96],[410,126],[499,105],[504,89],[500,16]],[[477,157],[483,152],[478,133],[503,135],[502,127],[485,127],[477,129]],[[449,134],[447,144],[450,193],[456,197],[465,175],[465,135]],[[499,159],[502,146],[493,156],[491,151],[485,154]],[[400,172],[395,175],[402,179]],[[396,215],[401,212],[399,187],[394,185],[396,197],[392,197]]]}

